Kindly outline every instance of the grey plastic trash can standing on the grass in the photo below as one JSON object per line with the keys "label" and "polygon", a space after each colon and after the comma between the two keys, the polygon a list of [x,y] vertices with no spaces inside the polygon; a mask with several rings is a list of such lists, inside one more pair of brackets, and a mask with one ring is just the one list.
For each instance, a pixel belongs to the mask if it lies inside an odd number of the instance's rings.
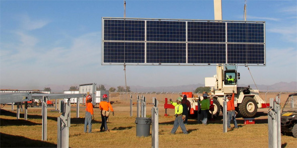
{"label": "grey plastic trash can standing on the grass", "polygon": [[150,127],[151,127],[151,118],[137,117],[135,120],[136,123],[136,136],[149,136]]}

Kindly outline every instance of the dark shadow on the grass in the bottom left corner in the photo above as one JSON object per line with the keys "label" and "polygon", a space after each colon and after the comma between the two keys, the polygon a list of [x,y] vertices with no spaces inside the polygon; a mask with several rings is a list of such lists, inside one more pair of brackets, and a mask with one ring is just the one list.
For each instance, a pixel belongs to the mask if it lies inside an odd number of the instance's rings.
{"label": "dark shadow on the grass in the bottom left corner", "polygon": [[[56,144],[0,132],[0,147],[57,147]],[[18,142],[16,142],[16,139]]]}

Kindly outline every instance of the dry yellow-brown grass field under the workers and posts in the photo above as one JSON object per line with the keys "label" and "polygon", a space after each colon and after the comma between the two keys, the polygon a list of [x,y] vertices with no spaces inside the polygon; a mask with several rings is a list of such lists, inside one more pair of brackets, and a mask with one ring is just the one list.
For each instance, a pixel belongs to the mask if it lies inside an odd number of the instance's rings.
{"label": "dry yellow-brown grass field under the workers and posts", "polygon": [[[111,97],[114,116],[107,123],[110,132],[99,132],[101,117],[99,108],[94,109],[95,120],[93,133],[84,133],[85,108],[80,109],[80,118],[76,118],[76,108],[71,109],[71,127],[69,131],[70,147],[151,147],[151,136],[136,136],[136,104],[133,105],[133,117],[130,117],[129,102],[123,96]],[[162,97],[163,98],[163,97]],[[168,97],[171,98],[171,97]],[[282,100],[284,100],[283,98]],[[179,127],[175,134],[169,134],[173,127],[173,110],[168,109],[169,117],[164,117],[163,99],[159,102],[159,147],[268,147],[268,109],[259,109],[256,124],[244,124],[243,118],[237,118],[239,129],[222,132],[222,115],[208,125],[197,124],[197,120],[189,120],[186,128],[189,134],[183,134]],[[134,101],[135,102],[135,101]],[[147,105],[147,117],[151,116],[152,105]],[[29,108],[28,120],[24,120],[21,112],[16,119],[15,110],[6,105],[0,115],[0,147],[56,147],[57,117],[61,113],[47,110],[47,140],[42,141],[41,108]],[[231,127],[233,124],[231,124]],[[282,147],[296,147],[297,139],[292,136],[281,136]]]}

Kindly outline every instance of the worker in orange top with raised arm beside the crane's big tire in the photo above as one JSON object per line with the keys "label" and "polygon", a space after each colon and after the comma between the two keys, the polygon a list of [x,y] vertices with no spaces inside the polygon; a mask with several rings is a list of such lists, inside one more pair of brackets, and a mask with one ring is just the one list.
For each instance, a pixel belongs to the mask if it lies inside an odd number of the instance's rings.
{"label": "worker in orange top with raised arm beside the crane's big tire", "polygon": [[236,111],[234,107],[234,91],[232,93],[232,97],[228,95],[228,102],[227,102],[227,127],[230,129],[230,122],[231,120],[234,121],[234,127],[238,128],[237,122],[236,122]]}

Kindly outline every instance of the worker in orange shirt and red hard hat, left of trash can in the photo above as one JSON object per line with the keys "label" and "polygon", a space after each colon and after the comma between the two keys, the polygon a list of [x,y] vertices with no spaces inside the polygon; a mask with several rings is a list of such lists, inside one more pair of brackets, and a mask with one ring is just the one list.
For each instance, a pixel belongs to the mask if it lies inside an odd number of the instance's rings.
{"label": "worker in orange shirt and red hard hat, left of trash can", "polygon": [[108,98],[107,98],[106,94],[103,95],[103,100],[100,101],[100,103],[99,103],[99,109],[101,110],[101,127],[100,127],[100,131],[103,131],[103,128],[104,128],[104,131],[109,132],[109,129],[108,129],[107,123],[106,123],[106,121],[107,121],[107,119],[109,117],[109,109],[112,112],[112,116],[114,116],[114,112],[113,112],[113,108],[112,108],[110,102],[108,101]]}

